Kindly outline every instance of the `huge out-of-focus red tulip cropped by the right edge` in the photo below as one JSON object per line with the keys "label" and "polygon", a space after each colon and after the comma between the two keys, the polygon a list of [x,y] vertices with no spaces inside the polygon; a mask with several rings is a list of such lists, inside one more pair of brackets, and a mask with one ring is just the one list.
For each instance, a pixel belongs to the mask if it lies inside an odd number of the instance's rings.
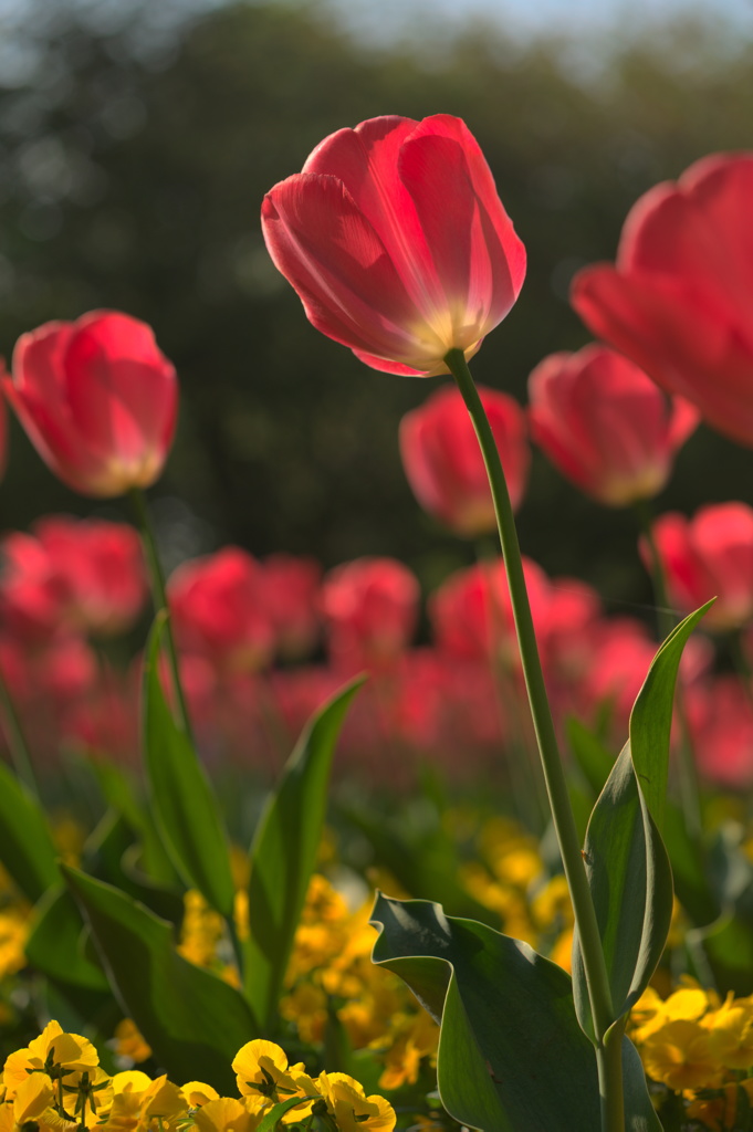
{"label": "huge out-of-focus red tulip cropped by the right edge", "polygon": [[635,204],[617,264],[575,277],[590,329],[753,444],[753,153],[696,162]]}

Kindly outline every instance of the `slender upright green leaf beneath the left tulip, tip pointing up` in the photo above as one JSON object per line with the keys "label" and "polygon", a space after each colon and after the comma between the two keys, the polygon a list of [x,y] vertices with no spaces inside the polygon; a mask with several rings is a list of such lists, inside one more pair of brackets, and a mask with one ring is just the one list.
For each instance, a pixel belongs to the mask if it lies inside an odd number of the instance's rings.
{"label": "slender upright green leaf beneath the left tulip, tip pointing up", "polygon": [[198,889],[225,919],[236,891],[228,834],[194,746],[170,711],[160,681],[164,617],[157,616],[144,664],[144,758],[151,807],[165,849],[187,885]]}

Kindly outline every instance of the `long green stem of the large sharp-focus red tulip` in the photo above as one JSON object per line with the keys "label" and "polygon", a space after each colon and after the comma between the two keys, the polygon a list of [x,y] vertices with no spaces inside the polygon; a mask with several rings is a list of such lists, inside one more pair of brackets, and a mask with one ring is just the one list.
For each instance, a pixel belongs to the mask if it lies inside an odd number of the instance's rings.
{"label": "long green stem of the large sharp-focus red tulip", "polygon": [[468,362],[462,350],[451,350],[444,360],[450,372],[455,378],[457,388],[462,394],[471,421],[473,422],[484,463],[486,464],[487,475],[489,477],[491,497],[497,515],[499,541],[507,573],[507,584],[510,586],[510,598],[523,663],[525,687],[531,706],[531,717],[533,719],[533,729],[544,769],[554,826],[559,842],[559,852],[573,902],[575,925],[588,981],[591,1015],[597,1038],[597,1057],[601,1090],[601,1127],[602,1132],[624,1132],[622,1062],[617,1057],[608,1056],[604,1046],[607,1030],[615,1021],[611,990],[609,988],[599,925],[596,918],[593,900],[591,899],[585,866],[581,856],[581,844],[570,804],[567,782],[565,780],[554,720],[544,683],[544,672],[541,670],[536,633],[533,631],[531,606],[525,589],[523,563],[507,483],[489,421],[484,411],[481,398],[473,384],[473,378],[471,377],[471,371],[468,368]]}

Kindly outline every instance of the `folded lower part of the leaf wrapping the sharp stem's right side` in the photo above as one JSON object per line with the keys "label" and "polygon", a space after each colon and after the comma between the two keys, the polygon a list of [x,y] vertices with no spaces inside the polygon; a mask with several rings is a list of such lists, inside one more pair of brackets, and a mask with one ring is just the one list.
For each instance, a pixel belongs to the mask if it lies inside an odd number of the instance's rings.
{"label": "folded lower part of the leaf wrapping the sharp stem's right side", "polygon": [[[664,951],[673,908],[669,858],[638,783],[630,744],[593,807],[583,856],[616,1020],[648,986]],[[577,933],[573,941],[573,992],[581,1026],[592,1036]]]}

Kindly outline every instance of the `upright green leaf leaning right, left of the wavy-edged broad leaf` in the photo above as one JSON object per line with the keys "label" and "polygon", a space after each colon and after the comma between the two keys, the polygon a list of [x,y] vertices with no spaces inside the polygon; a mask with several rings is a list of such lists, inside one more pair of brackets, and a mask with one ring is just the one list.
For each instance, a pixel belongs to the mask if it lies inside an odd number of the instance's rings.
{"label": "upright green leaf leaning right, left of the wavy-edged broad leaf", "polygon": [[335,741],[362,678],[339,692],[307,724],[262,815],[250,850],[246,994],[265,1032],[274,1027],[326,813]]}

